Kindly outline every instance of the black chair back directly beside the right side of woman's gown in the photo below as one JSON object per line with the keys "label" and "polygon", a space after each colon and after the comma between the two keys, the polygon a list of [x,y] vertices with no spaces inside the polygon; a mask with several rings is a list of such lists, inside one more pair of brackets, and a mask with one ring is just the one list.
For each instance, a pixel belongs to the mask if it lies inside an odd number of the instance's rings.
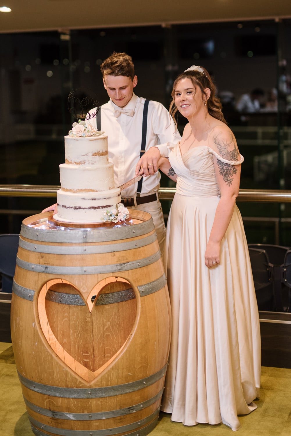
{"label": "black chair back directly beside the right side of woman's gown", "polygon": [[272,265],[269,262],[267,252],[262,249],[249,247],[249,254],[258,309],[273,311],[274,291]]}

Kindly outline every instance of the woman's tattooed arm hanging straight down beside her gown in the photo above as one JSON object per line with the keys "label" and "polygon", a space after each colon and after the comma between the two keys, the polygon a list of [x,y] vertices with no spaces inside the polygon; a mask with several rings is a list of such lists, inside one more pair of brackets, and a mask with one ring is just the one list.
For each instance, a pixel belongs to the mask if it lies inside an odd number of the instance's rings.
{"label": "woman's tattooed arm hanging straight down beside her gown", "polygon": [[[233,133],[228,127],[221,130],[215,136],[213,149],[216,149],[216,152],[226,160],[238,162],[240,153]],[[230,153],[231,159],[229,159],[228,153]],[[207,267],[213,266],[213,262],[214,265],[220,262],[220,244],[233,216],[236,197],[240,188],[241,164],[227,164],[215,156],[213,156],[213,162],[221,198],[216,208],[209,241],[206,246],[205,265]]]}

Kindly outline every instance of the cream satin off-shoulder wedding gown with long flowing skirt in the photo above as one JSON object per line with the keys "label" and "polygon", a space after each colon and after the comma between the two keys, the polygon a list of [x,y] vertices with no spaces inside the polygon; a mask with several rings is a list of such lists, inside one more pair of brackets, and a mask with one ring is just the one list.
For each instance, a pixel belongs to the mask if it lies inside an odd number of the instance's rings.
{"label": "cream satin off-shoulder wedding gown with long flowing skirt", "polygon": [[164,265],[172,311],[169,367],[161,410],[187,426],[223,422],[256,409],[260,387],[260,325],[240,211],[221,243],[220,264],[204,254],[219,202],[213,164],[223,159],[198,146],[169,155],[177,189],[168,218]]}

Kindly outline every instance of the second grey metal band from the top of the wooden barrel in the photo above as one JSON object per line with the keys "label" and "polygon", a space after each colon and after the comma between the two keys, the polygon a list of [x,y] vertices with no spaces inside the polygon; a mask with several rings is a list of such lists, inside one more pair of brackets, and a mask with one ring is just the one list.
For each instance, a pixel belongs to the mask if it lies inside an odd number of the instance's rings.
{"label": "second grey metal band from the top of the wooden barrel", "polygon": [[[37,243],[27,242],[24,239],[19,239],[19,246],[27,251],[46,254],[99,254],[99,253],[112,253],[124,250],[131,250],[145,245],[149,245],[156,240],[156,233],[149,235],[145,238],[135,239],[134,241],[121,242],[119,244],[107,245],[38,245]],[[84,241],[82,241],[84,242]]]}

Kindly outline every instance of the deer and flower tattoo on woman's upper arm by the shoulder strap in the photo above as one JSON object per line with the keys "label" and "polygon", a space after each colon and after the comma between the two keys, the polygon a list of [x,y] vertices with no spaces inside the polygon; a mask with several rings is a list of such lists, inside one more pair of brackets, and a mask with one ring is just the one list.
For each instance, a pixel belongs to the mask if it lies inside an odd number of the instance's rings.
{"label": "deer and flower tattoo on woman's upper arm by the shoulder strap", "polygon": [[[232,134],[229,135],[229,140],[227,141],[225,138],[219,138],[220,133],[213,138],[214,143],[219,150],[219,154],[226,160],[239,160],[239,150],[236,146],[234,137]],[[233,150],[229,151],[229,146],[233,143]],[[223,176],[223,180],[226,182],[227,186],[232,184],[233,178],[231,178],[234,174],[237,173],[236,167],[233,165],[227,164],[226,162],[221,162],[221,160],[217,160],[217,165],[219,166],[219,174]]]}

